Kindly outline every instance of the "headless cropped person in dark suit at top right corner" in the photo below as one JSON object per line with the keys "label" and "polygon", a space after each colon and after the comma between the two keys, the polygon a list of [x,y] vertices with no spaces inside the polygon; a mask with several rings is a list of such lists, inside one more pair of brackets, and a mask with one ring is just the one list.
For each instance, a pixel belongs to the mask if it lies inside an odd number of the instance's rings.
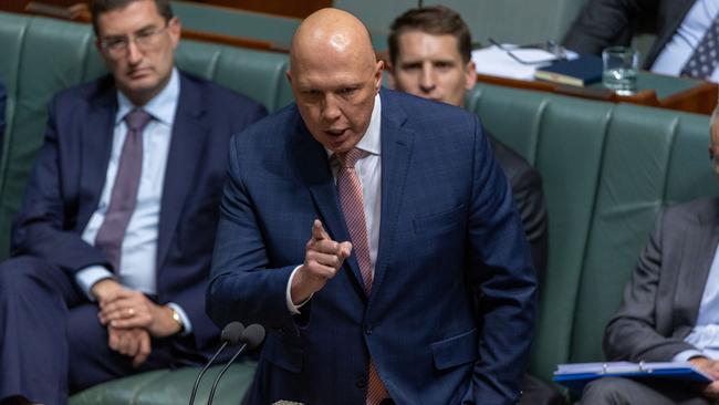
{"label": "headless cropped person in dark suit at top right corner", "polygon": [[590,0],[563,43],[573,51],[598,55],[604,48],[628,45],[635,34],[650,33],[656,40],[644,69],[718,82],[718,14],[716,0]]}

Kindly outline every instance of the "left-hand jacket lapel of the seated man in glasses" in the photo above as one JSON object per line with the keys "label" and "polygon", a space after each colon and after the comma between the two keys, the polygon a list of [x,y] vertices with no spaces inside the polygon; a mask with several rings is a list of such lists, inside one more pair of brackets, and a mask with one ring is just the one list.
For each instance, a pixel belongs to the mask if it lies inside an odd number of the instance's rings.
{"label": "left-hand jacket lapel of the seated man in glasses", "polygon": [[105,84],[101,84],[98,96],[92,102],[93,106],[82,127],[80,139],[82,166],[77,229],[81,230],[85,228],[100,202],[113,146],[117,95],[114,86]]}

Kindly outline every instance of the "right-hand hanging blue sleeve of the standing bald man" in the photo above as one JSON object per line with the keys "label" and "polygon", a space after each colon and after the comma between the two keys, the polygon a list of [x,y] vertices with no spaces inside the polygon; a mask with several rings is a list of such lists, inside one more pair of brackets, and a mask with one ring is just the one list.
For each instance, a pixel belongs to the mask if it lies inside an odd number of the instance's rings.
{"label": "right-hand hanging blue sleeve of the standing bald man", "polygon": [[519,398],[534,334],[536,280],[509,183],[475,118],[468,222],[469,279],[478,298],[478,361],[463,403]]}

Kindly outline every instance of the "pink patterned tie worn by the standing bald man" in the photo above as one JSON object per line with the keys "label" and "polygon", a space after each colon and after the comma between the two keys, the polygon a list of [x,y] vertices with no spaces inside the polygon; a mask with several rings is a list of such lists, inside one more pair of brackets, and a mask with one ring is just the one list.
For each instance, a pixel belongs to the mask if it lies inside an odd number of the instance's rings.
{"label": "pink patterned tie worn by the standing bald man", "polygon": [[[340,170],[337,172],[337,193],[344,220],[352,238],[352,252],[359,264],[364,281],[365,293],[372,292],[372,260],[369,259],[369,242],[367,240],[367,221],[365,220],[362,184],[354,165],[367,155],[366,152],[353,148],[345,154],[337,154]],[[379,380],[375,363],[369,361],[367,377],[366,405],[377,405],[387,397],[387,390]]]}

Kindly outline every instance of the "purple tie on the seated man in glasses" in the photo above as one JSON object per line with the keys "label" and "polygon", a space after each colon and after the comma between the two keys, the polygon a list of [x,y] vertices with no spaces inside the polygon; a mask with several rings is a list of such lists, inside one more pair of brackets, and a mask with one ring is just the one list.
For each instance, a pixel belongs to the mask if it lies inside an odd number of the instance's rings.
{"label": "purple tie on the seated man in glasses", "polygon": [[143,172],[143,129],[150,120],[152,116],[142,108],[135,108],[125,115],[127,136],[105,220],[95,238],[95,247],[105,253],[115,271],[119,269],[125,229],[137,204],[137,188]]}

